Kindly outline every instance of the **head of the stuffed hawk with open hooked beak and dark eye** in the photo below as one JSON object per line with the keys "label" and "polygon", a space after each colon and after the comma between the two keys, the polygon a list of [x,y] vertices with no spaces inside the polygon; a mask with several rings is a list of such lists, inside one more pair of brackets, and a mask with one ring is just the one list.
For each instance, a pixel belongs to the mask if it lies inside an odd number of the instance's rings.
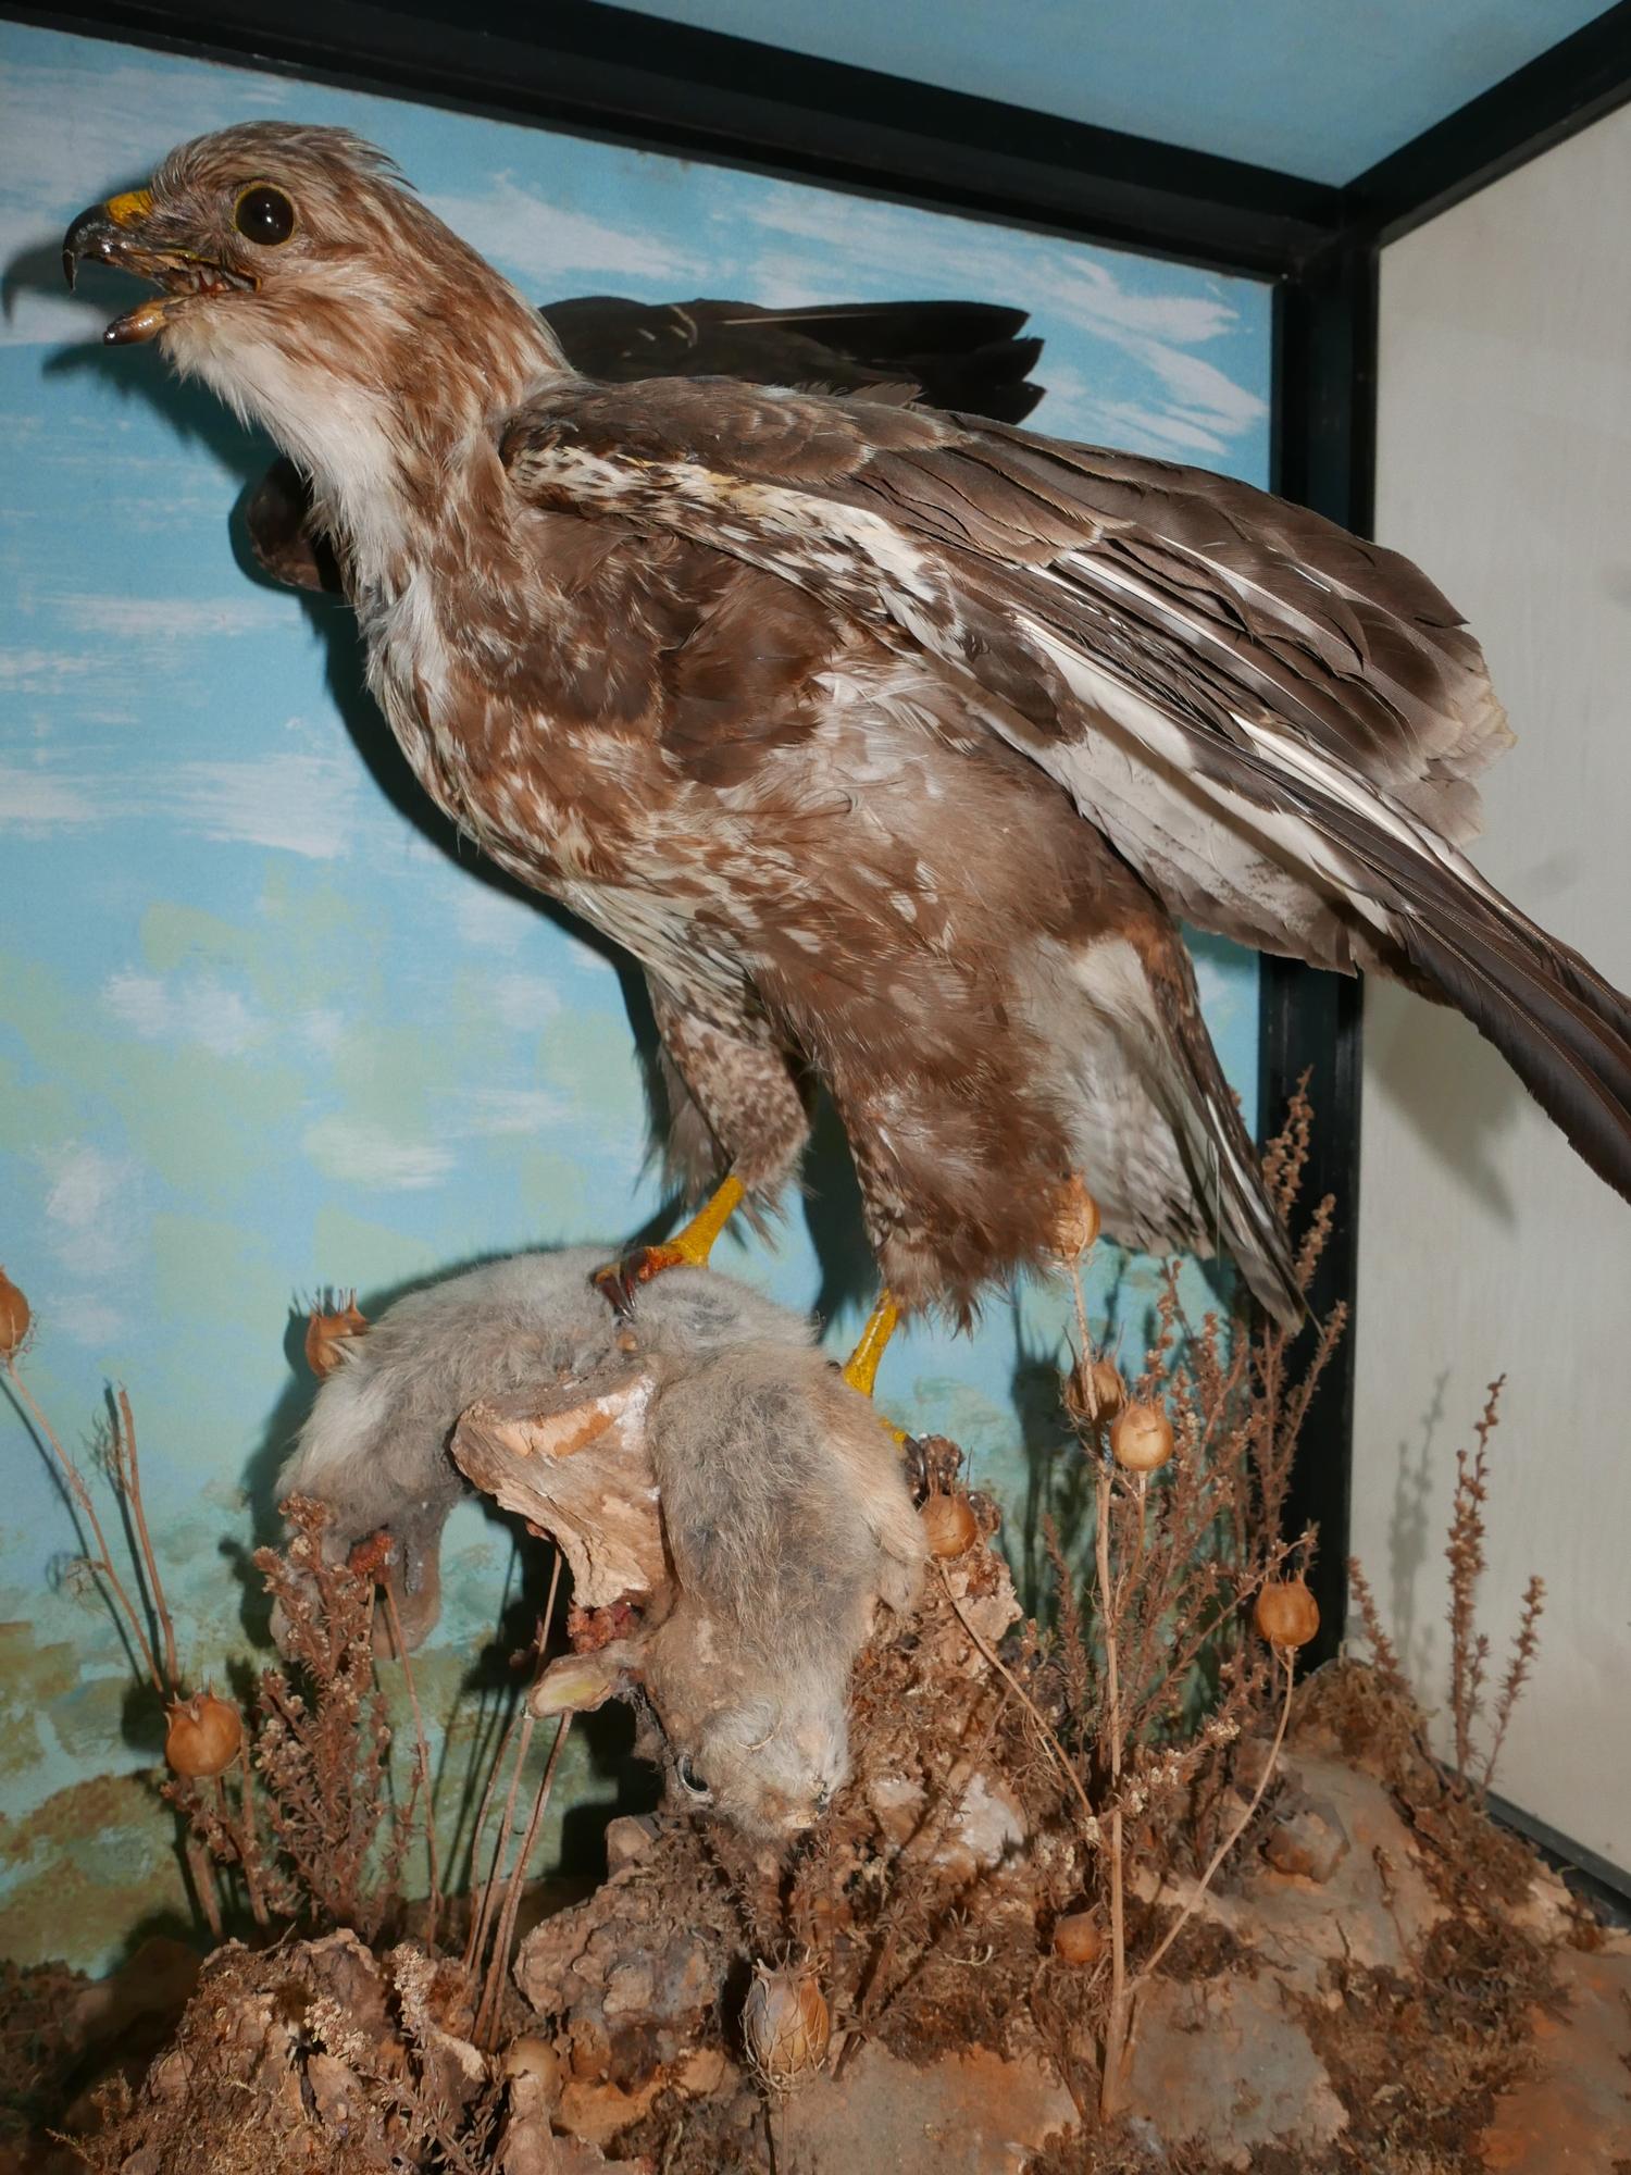
{"label": "head of the stuffed hawk with open hooked beak and dark eye", "polygon": [[346,502],[561,368],[541,318],[346,128],[244,122],[174,150],[63,239],[161,294],[115,318]]}

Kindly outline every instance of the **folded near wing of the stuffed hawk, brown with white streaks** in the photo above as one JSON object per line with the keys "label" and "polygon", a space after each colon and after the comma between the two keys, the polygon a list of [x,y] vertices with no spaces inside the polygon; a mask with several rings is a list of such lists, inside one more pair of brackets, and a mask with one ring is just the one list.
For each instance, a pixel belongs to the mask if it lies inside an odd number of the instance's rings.
{"label": "folded near wing of the stuffed hawk, brown with white streaks", "polygon": [[[1174,911],[1455,1003],[1631,1196],[1627,1000],[1455,850],[1477,831],[1472,781],[1511,735],[1477,644],[1409,561],[1246,485],[1131,455],[970,418],[859,402],[800,418],[794,400],[722,396],[661,387],[642,405],[642,518],[829,596],[983,689],[987,720],[1076,792],[1157,892],[1161,870],[1187,868]],[[581,420],[583,450],[615,463],[607,400]],[[546,433],[557,444],[561,422]],[[739,492],[711,502],[698,468],[761,485],[759,524]],[[1137,713],[1107,718],[1090,670]],[[1126,787],[1131,818],[1096,805],[1083,770],[1107,733],[1146,766]],[[1148,783],[1166,794],[1159,840],[1140,833]],[[1231,853],[1248,877],[1261,863],[1300,885],[1307,927],[1274,924],[1272,883],[1255,927],[1240,927],[1237,898],[1207,918],[1209,863]],[[1307,950],[1316,916],[1335,935]]]}

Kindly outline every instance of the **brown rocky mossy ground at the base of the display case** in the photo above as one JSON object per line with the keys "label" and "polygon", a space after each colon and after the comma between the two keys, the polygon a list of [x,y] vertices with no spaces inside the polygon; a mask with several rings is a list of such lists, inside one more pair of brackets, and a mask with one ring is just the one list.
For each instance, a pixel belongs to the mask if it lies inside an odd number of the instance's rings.
{"label": "brown rocky mossy ground at the base of the display case", "polygon": [[[413,1940],[228,1942],[202,1971],[150,1944],[100,1986],[13,1973],[0,2171],[1631,2175],[1631,1938],[1494,1829],[1357,1664],[1298,1692],[1100,2125],[1109,1964],[1055,1947],[1072,1894],[1103,1912],[1096,1860],[953,1596],[992,1649],[1013,1623],[998,1559],[970,1551],[861,1668],[852,1803],[792,1868],[705,1820],[613,1823],[607,1879],[522,1942],[494,2051],[457,1962]],[[1005,1653],[1024,1666],[1024,1627]],[[1229,1749],[1213,1831],[1268,1751]],[[1194,1892],[1203,1851],[1179,1844],[1135,1857],[1135,1949]],[[816,2003],[757,2062],[755,1964]]]}

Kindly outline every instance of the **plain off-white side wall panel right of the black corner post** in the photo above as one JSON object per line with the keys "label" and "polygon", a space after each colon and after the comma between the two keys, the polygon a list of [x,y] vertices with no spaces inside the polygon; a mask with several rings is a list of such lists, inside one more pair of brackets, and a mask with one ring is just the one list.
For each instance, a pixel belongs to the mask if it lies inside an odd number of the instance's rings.
{"label": "plain off-white side wall panel right of the black corner post", "polygon": [[[1631,111],[1387,248],[1377,535],[1518,746],[1485,874],[1631,987]],[[1631,1209],[1464,1020],[1366,992],[1355,1551],[1444,1705],[1455,1446],[1507,1372],[1483,1627],[1548,1607],[1496,1788],[1631,1868]]]}

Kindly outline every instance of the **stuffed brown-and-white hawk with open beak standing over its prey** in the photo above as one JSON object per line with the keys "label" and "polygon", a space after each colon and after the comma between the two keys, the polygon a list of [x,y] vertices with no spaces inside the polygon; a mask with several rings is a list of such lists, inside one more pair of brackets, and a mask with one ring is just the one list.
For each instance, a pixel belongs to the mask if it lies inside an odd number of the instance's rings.
{"label": "stuffed brown-and-white hawk with open beak standing over its prey", "polygon": [[426,792],[642,961],[698,1190],[783,1185],[811,1068],[905,1307],[1046,1259],[1079,1170],[1296,1318],[1187,916],[1457,1005],[1631,1192],[1631,1007],[1464,857],[1509,733],[1405,559],[968,413],[583,376],[333,128],[183,146],[85,257],[311,478]]}

